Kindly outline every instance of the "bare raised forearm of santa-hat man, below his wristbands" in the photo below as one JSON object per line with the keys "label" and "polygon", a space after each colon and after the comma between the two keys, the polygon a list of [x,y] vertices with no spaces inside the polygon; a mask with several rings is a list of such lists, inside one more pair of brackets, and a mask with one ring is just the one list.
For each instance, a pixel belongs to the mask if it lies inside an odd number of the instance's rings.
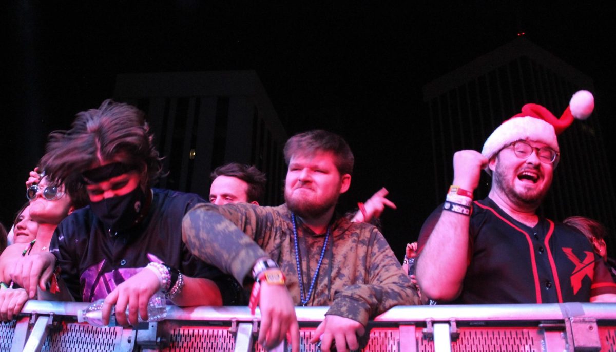
{"label": "bare raised forearm of santa-hat man, below his wristbands", "polygon": [[462,289],[468,263],[467,215],[444,211],[417,260],[417,281],[433,300],[453,300]]}

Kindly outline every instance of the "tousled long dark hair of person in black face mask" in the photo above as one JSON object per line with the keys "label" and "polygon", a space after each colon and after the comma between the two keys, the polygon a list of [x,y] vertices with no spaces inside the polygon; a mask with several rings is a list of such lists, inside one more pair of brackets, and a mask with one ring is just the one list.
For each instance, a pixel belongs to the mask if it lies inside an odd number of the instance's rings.
{"label": "tousled long dark hair of person in black face mask", "polygon": [[111,99],[98,109],[78,113],[70,130],[51,132],[46,152],[39,164],[53,182],[64,183],[71,198],[79,197],[83,188],[81,174],[99,156],[111,160],[121,154],[123,164],[147,172],[150,185],[158,181],[162,170],[144,113]]}

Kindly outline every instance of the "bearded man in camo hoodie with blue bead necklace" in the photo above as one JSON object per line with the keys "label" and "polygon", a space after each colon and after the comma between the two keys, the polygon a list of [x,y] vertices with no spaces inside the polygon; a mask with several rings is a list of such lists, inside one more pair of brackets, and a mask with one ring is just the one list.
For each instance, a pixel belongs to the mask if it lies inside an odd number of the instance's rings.
{"label": "bearded man in camo hoodie with blue bead necklace", "polygon": [[313,130],[291,137],[284,152],[285,204],[200,204],[184,218],[183,239],[193,254],[239,282],[257,282],[251,301],[260,293],[265,348],[290,332],[298,351],[293,305],[303,305],[330,306],[313,343],[321,338],[324,351],[333,345],[357,350],[370,317],[418,304],[416,292],[374,226],[334,214],[351,185],[354,157],[347,143]]}

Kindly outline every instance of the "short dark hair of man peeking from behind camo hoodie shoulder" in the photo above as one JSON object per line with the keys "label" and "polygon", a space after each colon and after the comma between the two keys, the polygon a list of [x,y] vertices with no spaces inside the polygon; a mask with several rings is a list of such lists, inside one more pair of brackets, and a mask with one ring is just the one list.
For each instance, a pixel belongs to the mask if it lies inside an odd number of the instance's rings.
{"label": "short dark hair of man peeking from behind camo hoodie shoulder", "polygon": [[261,204],[263,201],[265,197],[265,183],[267,182],[267,178],[265,177],[265,174],[255,166],[240,164],[239,162],[230,162],[229,164],[216,167],[216,169],[214,169],[214,171],[209,175],[212,181],[216,180],[216,177],[219,176],[239,178],[248,184],[246,198],[249,202],[256,201]]}

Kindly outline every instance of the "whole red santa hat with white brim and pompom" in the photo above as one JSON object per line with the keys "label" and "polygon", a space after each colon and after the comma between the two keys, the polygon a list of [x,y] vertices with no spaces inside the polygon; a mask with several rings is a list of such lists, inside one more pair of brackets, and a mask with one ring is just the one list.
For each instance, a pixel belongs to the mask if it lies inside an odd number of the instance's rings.
{"label": "whole red santa hat with white brim and pompom", "polygon": [[481,154],[490,159],[505,146],[518,140],[544,143],[559,152],[556,136],[567,129],[574,118],[587,119],[593,112],[593,108],[593,94],[588,90],[579,90],[573,94],[569,106],[560,119],[541,105],[526,104],[522,106],[522,113],[503,122],[492,132],[485,140]]}

